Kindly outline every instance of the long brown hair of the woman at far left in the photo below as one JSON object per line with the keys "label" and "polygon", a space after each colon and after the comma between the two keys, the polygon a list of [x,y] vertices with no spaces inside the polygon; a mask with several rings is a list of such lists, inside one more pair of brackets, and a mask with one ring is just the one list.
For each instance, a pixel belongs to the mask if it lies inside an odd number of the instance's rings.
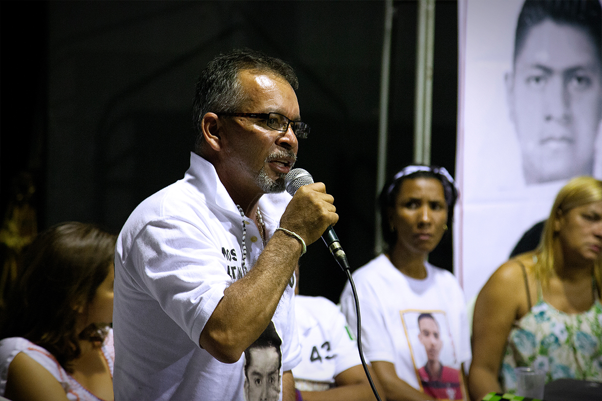
{"label": "long brown hair of the woman at far left", "polygon": [[67,371],[79,356],[76,320],[107,278],[117,237],[95,225],[66,222],[37,235],[26,248],[0,338],[24,337],[52,353]]}

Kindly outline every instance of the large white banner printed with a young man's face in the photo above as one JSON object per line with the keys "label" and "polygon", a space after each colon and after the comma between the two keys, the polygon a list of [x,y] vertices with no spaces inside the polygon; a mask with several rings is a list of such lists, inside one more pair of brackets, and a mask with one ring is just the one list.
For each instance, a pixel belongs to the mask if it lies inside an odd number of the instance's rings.
{"label": "large white banner printed with a young man's face", "polygon": [[601,32],[586,9],[572,0],[459,3],[454,237],[468,300],[570,178],[602,176]]}

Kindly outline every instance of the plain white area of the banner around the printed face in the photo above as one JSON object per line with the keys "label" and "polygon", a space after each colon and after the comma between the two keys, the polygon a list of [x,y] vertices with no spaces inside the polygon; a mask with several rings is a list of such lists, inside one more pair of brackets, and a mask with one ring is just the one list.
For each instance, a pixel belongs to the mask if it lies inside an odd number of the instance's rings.
{"label": "plain white area of the banner around the printed face", "polygon": [[[455,273],[467,300],[507,260],[533,224],[544,220],[555,181],[527,186],[504,75],[512,66],[514,30],[523,0],[459,2],[459,116],[456,178],[461,197],[454,229]],[[602,176],[598,128],[594,175]],[[512,291],[513,289],[509,289]]]}

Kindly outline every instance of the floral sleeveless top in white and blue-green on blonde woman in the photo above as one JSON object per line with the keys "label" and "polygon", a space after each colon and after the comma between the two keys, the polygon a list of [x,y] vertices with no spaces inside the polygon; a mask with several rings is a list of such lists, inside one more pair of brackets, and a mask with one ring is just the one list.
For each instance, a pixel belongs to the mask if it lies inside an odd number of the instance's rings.
{"label": "floral sleeveless top in white and blue-green on blonde woman", "polygon": [[499,378],[506,392],[517,389],[517,366],[546,371],[546,382],[560,378],[602,382],[602,305],[598,297],[588,311],[566,314],[544,301],[538,282],[538,302],[514,323],[508,336]]}

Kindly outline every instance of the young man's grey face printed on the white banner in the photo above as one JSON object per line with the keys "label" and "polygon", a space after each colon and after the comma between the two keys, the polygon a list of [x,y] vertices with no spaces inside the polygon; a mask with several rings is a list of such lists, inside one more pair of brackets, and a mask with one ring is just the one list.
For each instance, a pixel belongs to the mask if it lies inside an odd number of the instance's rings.
{"label": "young man's grey face printed on the white banner", "polygon": [[506,76],[527,184],[592,175],[602,119],[600,52],[583,28],[530,28]]}

